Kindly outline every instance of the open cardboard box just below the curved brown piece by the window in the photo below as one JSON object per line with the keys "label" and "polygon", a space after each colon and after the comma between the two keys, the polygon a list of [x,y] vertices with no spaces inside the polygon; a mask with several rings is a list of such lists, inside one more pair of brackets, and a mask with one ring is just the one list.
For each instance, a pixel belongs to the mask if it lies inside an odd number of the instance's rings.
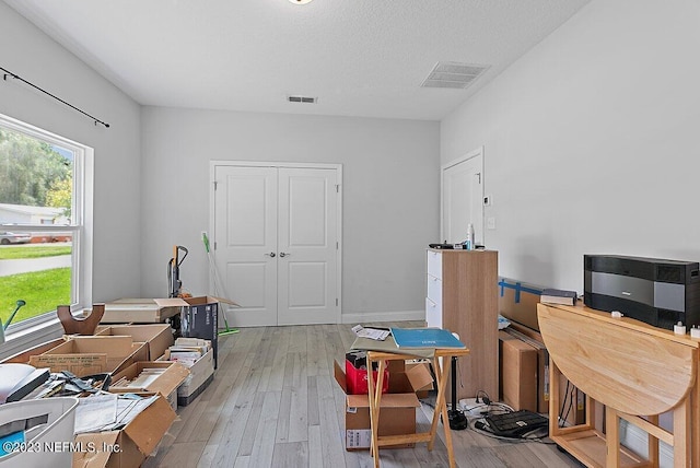
{"label": "open cardboard box just below the curved brown piece by the window", "polygon": [[38,355],[30,356],[35,367],[51,372],[70,371],[79,377],[119,372],[148,355],[145,343],[135,343],[131,337],[73,337]]}

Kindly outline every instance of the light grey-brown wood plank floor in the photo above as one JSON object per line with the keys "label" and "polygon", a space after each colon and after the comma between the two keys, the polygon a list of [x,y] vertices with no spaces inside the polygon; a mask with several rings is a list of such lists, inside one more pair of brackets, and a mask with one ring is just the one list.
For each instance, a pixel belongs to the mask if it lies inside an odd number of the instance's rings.
{"label": "light grey-brown wood plank floor", "polygon": [[[178,409],[178,419],[143,466],[372,466],[369,451],[345,449],[345,394],[332,376],[334,360],[343,362],[352,341],[348,325],[243,328],[221,337],[214,381]],[[430,400],[417,418],[418,430],[428,431]],[[382,449],[381,466],[447,467],[442,426],[439,434],[432,452],[425,444]],[[452,434],[462,468],[582,466],[550,444],[501,442],[472,430]]]}

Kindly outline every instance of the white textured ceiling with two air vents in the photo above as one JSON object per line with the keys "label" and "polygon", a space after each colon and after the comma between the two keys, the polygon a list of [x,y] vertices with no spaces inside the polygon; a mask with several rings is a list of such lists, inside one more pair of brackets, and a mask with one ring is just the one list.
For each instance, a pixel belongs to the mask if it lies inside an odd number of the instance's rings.
{"label": "white textured ceiling with two air vents", "polygon": [[[143,105],[440,120],[588,0],[5,2]],[[490,68],[420,87],[439,61]]]}

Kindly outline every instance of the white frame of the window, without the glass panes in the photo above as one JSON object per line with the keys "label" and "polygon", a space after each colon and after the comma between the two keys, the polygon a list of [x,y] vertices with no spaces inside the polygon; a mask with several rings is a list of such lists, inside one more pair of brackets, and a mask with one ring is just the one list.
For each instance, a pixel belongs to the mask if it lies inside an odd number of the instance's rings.
{"label": "white frame of the window, without the glass panes", "polygon": [[[94,188],[94,150],[85,144],[40,129],[33,125],[0,114],[0,127],[23,133],[55,144],[73,152],[73,197],[71,220],[69,225],[60,225],[60,231],[70,232],[72,236],[71,254],[71,309],[75,313],[92,307],[92,259],[93,259],[93,188]],[[34,233],[57,230],[56,224],[0,224],[7,231]],[[57,304],[59,305],[59,304]],[[32,328],[42,327],[56,320],[56,309],[25,320],[10,324],[5,330],[5,339],[13,334],[24,335]]]}

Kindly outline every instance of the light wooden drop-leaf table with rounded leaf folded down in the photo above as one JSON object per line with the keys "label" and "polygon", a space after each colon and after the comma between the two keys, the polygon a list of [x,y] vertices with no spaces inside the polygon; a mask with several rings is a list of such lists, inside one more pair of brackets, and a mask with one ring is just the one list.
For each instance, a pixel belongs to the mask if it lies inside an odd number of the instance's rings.
{"label": "light wooden drop-leaf table with rounded leaf folded down", "polygon": [[[658,441],[674,447],[674,466],[700,466],[700,341],[581,305],[538,304],[537,316],[550,356],[552,441],[588,467],[657,467]],[[559,428],[560,374],[586,394],[584,424]],[[594,401],[605,406],[605,435]],[[673,432],[658,425],[665,412]],[[649,458],[620,446],[619,419],[649,433]]]}

